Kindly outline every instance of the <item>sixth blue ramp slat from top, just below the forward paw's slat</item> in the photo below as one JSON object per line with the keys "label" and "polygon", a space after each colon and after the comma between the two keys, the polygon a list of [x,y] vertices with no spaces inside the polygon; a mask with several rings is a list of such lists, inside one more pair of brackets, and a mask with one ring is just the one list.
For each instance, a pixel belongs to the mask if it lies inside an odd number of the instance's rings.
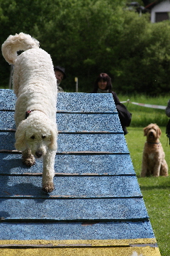
{"label": "sixth blue ramp slat from top, just below the forward paw's slat", "polygon": [[142,198],[0,199],[3,220],[140,220],[147,219]]}

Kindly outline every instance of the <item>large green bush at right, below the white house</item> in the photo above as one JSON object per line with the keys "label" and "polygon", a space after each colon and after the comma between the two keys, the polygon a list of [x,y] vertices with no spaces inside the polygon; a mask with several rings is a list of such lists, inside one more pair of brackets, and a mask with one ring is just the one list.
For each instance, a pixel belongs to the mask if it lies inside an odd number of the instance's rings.
{"label": "large green bush at right, below the white house", "polygon": [[[115,89],[164,94],[170,89],[170,23],[150,23],[147,16],[125,14],[117,50]],[[116,69],[115,69],[116,72]]]}

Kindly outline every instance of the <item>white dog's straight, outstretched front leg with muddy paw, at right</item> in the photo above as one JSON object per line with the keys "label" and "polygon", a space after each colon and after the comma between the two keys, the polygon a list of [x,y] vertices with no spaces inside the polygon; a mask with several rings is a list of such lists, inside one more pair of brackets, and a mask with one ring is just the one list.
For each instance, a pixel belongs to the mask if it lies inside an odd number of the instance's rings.
{"label": "white dog's straight, outstretched front leg with muddy paw, at right", "polygon": [[43,157],[42,190],[50,193],[55,186],[53,178],[55,176],[55,151],[48,150]]}

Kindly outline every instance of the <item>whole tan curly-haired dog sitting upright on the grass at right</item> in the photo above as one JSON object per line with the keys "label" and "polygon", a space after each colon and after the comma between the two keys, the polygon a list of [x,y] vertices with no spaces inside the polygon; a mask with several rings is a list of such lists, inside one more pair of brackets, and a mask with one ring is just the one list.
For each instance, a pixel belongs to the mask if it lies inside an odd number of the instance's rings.
{"label": "whole tan curly-haired dog sitting upright on the grass at right", "polygon": [[141,176],[168,176],[168,165],[166,164],[164,150],[159,141],[162,131],[157,124],[149,124],[144,128],[145,142]]}

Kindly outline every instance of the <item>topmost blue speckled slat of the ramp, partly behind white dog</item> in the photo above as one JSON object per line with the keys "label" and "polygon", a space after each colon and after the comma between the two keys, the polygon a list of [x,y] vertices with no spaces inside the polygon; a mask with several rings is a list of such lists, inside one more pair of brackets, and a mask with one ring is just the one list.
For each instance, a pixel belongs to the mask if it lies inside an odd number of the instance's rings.
{"label": "topmost blue speckled slat of the ramp, partly behind white dog", "polygon": [[[0,110],[14,110],[13,90],[0,89]],[[111,93],[62,92],[57,96],[59,112],[117,112]]]}

